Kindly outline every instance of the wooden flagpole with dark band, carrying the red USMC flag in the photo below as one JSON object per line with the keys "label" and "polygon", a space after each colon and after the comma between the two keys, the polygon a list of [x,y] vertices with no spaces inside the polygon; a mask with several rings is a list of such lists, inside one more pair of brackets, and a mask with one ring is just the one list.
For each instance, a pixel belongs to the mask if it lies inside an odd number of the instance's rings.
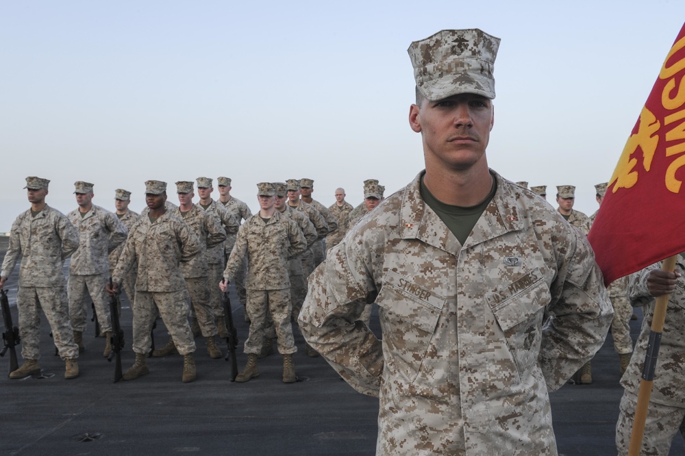
{"label": "wooden flagpole with dark band, carrying the red USMC flag", "polygon": [[[672,257],[664,259],[661,270],[672,273],[675,269],[676,256],[677,255],[673,255]],[[664,321],[666,320],[666,309],[669,305],[669,297],[671,297],[670,294],[663,294],[656,299],[656,306],[654,307],[654,314],[651,320],[651,331],[649,333],[649,345],[647,346],[647,353],[645,353],[645,367],[643,368],[643,376],[640,380],[638,405],[635,407],[633,429],[630,434],[628,456],[640,455],[640,447],[642,446],[642,440],[645,434],[647,411],[649,409],[649,398],[651,397],[651,388],[654,383],[654,370],[656,370],[656,360],[659,357],[661,334],[664,332]]]}

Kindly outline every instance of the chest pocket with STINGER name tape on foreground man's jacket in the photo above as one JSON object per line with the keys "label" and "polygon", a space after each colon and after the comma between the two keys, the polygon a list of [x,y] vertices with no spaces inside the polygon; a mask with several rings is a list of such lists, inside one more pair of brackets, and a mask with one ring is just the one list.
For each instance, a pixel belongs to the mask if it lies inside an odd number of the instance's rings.
{"label": "chest pocket with STINGER name tape on foreground man's jacket", "polygon": [[401,288],[404,282],[398,279],[386,277],[376,299],[381,308],[384,358],[389,368],[414,381],[429,351],[445,298],[415,283]]}

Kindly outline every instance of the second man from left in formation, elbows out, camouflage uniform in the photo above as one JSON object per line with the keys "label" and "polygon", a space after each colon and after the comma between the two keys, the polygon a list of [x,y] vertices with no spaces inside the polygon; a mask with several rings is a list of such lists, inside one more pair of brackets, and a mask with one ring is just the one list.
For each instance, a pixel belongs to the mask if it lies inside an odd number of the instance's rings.
{"label": "second man from left in formation, elbows out, camouflage uniform", "polygon": [[95,305],[100,331],[105,334],[104,357],[112,351],[112,316],[110,301],[105,287],[110,281],[110,253],[126,240],[128,229],[112,212],[92,203],[93,184],[77,181],[74,193],[79,207],[67,214],[67,218],[79,233],[79,249],[71,256],[69,264],[69,315],[74,330],[74,341],[79,351],[85,350],[83,333],[86,331],[86,295]]}

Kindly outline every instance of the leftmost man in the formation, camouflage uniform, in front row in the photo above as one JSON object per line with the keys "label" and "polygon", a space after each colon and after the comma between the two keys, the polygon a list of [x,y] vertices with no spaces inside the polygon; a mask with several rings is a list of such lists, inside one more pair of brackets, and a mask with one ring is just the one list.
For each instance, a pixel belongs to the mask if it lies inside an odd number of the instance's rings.
{"label": "leftmost man in the formation, camouflage uniform, in front row", "polygon": [[0,272],[0,290],[21,258],[16,307],[19,311],[19,337],[24,363],[10,379],[40,374],[40,309],[50,324],[58,353],[66,364],[65,379],[79,376],[79,347],[69,318],[69,301],[62,266],[79,248],[79,235],[69,219],[45,203],[48,179],[27,177],[31,209],[19,215],[10,231],[10,246]]}

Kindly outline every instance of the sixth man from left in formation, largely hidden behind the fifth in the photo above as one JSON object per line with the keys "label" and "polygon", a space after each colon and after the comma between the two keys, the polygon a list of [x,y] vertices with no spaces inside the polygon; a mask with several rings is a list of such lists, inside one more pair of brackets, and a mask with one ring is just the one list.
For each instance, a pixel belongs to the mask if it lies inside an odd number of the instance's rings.
{"label": "sixth man from left in formation, largely hidden behind the fifth", "polygon": [[[214,216],[216,220],[219,220],[219,223],[221,223],[226,231],[226,236],[234,236],[238,233],[240,223],[238,223],[238,219],[231,212],[223,207],[223,204],[217,203],[212,199],[213,191],[214,187],[212,187],[212,179],[210,177],[197,178],[197,193],[200,195],[200,206],[208,214]],[[210,304],[212,305],[212,312],[216,317],[216,327],[219,329],[219,337],[221,338],[225,338],[228,335],[223,314],[223,304],[221,304],[221,293],[219,293],[219,287],[216,286],[216,283],[221,281],[221,273],[223,273],[223,268],[225,267],[223,249],[223,243],[208,247],[207,249],[209,281],[212,284],[210,286]],[[193,329],[193,333],[196,333],[197,329]]]}

